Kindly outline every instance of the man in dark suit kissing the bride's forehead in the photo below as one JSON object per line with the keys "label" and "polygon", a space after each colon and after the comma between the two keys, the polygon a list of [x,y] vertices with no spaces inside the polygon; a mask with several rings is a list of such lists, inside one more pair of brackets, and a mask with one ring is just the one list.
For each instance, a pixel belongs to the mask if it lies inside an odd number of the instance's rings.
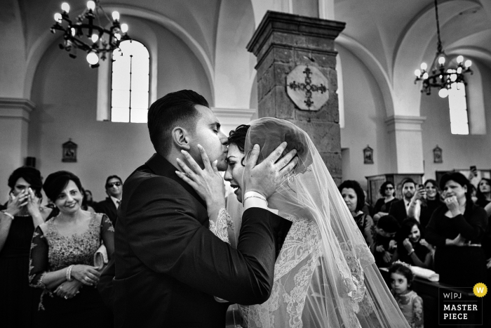
{"label": "man in dark suit kissing the bride's forehead", "polygon": [[[208,217],[216,217],[224,206],[222,187],[205,202],[176,174],[177,158],[184,161],[182,150],[204,166],[198,145],[218,169],[227,168],[227,137],[198,93],[182,90],[156,100],[149,108],[148,128],[156,154],[125,181],[118,209],[115,325],[224,327],[229,304],[213,296],[243,305],[269,298],[277,232],[285,221],[250,202],[237,249],[208,230]],[[259,150],[253,150],[245,167],[245,190],[271,195],[284,176],[280,170],[290,171],[297,162],[293,151],[278,159],[284,149],[281,145],[257,166]]]}

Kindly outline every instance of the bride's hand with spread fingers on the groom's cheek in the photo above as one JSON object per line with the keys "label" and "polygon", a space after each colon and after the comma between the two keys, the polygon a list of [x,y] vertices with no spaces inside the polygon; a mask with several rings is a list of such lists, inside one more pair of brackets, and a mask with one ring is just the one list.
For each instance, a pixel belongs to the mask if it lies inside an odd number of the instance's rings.
{"label": "bride's hand with spread fingers on the groom's cheek", "polygon": [[225,207],[225,187],[223,183],[223,178],[218,172],[217,161],[210,164],[210,159],[206,155],[206,151],[201,145],[198,145],[199,152],[201,154],[201,159],[203,159],[203,164],[205,169],[196,163],[193,157],[189,155],[188,152],[182,150],[182,155],[191,166],[191,169],[182,162],[182,160],[177,159],[177,164],[181,166],[184,173],[180,171],[175,171],[177,176],[182,178],[186,183],[191,185],[191,187],[196,190],[198,195],[206,202],[206,207],[208,209],[208,216],[210,218],[215,217],[215,212]]}

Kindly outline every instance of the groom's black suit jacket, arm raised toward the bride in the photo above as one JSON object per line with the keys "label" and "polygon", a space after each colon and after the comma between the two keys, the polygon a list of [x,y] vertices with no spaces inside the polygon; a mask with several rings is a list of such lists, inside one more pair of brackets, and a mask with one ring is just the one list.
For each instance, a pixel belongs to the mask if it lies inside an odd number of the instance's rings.
{"label": "groom's black suit jacket, arm raised toward the bride", "polygon": [[[208,229],[206,204],[155,154],[124,183],[115,233],[116,327],[225,327],[228,303],[263,303],[278,230],[288,221],[244,212],[237,249]],[[280,232],[281,234],[281,232]]]}

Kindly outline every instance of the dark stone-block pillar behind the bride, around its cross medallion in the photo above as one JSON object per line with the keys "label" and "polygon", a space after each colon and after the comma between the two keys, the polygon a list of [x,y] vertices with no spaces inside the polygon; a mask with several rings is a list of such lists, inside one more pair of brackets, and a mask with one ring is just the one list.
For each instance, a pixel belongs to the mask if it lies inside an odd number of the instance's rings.
{"label": "dark stone-block pillar behind the bride, around its cross medallion", "polygon": [[[309,133],[337,183],[342,172],[334,40],[344,25],[268,11],[247,46],[257,57],[258,117],[286,119]],[[300,110],[288,96],[287,76],[297,65],[316,67],[327,78],[328,100],[316,111]]]}

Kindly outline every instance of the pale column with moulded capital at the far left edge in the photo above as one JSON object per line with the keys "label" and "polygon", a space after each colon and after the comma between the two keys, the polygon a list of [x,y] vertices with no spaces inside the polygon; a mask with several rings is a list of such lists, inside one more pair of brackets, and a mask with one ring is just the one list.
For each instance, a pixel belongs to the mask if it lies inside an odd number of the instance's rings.
{"label": "pale column with moulded capital at the far left edge", "polygon": [[29,114],[34,103],[22,98],[0,98],[0,203],[8,197],[7,181],[27,157]]}

